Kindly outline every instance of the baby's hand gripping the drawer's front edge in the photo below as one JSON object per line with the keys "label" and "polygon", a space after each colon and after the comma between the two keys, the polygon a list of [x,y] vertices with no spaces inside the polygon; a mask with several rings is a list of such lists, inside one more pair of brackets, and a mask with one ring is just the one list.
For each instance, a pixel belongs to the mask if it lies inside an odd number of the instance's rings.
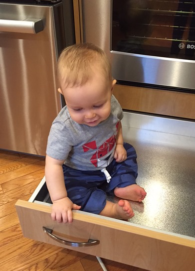
{"label": "baby's hand gripping the drawer's front edge", "polygon": [[71,223],[72,209],[79,210],[81,206],[74,204],[68,197],[53,201],[51,218],[57,222]]}

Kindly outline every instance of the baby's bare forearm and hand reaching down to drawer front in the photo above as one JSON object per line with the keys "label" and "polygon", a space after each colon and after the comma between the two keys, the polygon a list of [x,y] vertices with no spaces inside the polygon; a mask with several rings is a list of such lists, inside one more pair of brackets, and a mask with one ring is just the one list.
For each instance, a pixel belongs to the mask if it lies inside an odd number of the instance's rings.
{"label": "baby's bare forearm and hand reaching down to drawer front", "polygon": [[45,178],[53,203],[51,212],[52,220],[71,223],[72,209],[79,210],[81,206],[74,204],[67,196],[62,169],[63,162],[63,160],[57,160],[46,155]]}

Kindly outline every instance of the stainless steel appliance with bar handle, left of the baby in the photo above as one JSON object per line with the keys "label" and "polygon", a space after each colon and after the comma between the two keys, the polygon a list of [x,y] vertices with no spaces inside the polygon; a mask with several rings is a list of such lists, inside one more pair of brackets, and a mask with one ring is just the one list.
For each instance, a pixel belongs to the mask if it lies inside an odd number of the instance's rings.
{"label": "stainless steel appliance with bar handle, left of the baby", "polygon": [[45,155],[57,58],[74,42],[71,0],[0,1],[0,148]]}

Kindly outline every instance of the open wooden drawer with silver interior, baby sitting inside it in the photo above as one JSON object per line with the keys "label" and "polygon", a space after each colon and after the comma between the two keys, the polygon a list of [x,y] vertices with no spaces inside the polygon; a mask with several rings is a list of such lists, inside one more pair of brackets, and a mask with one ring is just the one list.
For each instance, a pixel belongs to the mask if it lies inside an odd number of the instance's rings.
{"label": "open wooden drawer with silver interior, baby sitting inside it", "polygon": [[16,203],[23,235],[146,270],[194,270],[194,131],[194,122],[125,113],[124,139],[137,150],[137,181],[148,192],[132,202],[134,218],[73,211],[72,224],[53,222],[43,178],[28,202]]}

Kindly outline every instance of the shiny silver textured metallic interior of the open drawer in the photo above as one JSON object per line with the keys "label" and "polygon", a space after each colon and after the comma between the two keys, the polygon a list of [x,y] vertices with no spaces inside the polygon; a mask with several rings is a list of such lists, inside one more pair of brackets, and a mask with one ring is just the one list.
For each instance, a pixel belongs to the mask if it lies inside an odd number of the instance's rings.
{"label": "shiny silver textured metallic interior of the open drawer", "polygon": [[131,201],[129,222],[195,237],[195,122],[125,112],[122,125],[147,191],[143,203]]}

